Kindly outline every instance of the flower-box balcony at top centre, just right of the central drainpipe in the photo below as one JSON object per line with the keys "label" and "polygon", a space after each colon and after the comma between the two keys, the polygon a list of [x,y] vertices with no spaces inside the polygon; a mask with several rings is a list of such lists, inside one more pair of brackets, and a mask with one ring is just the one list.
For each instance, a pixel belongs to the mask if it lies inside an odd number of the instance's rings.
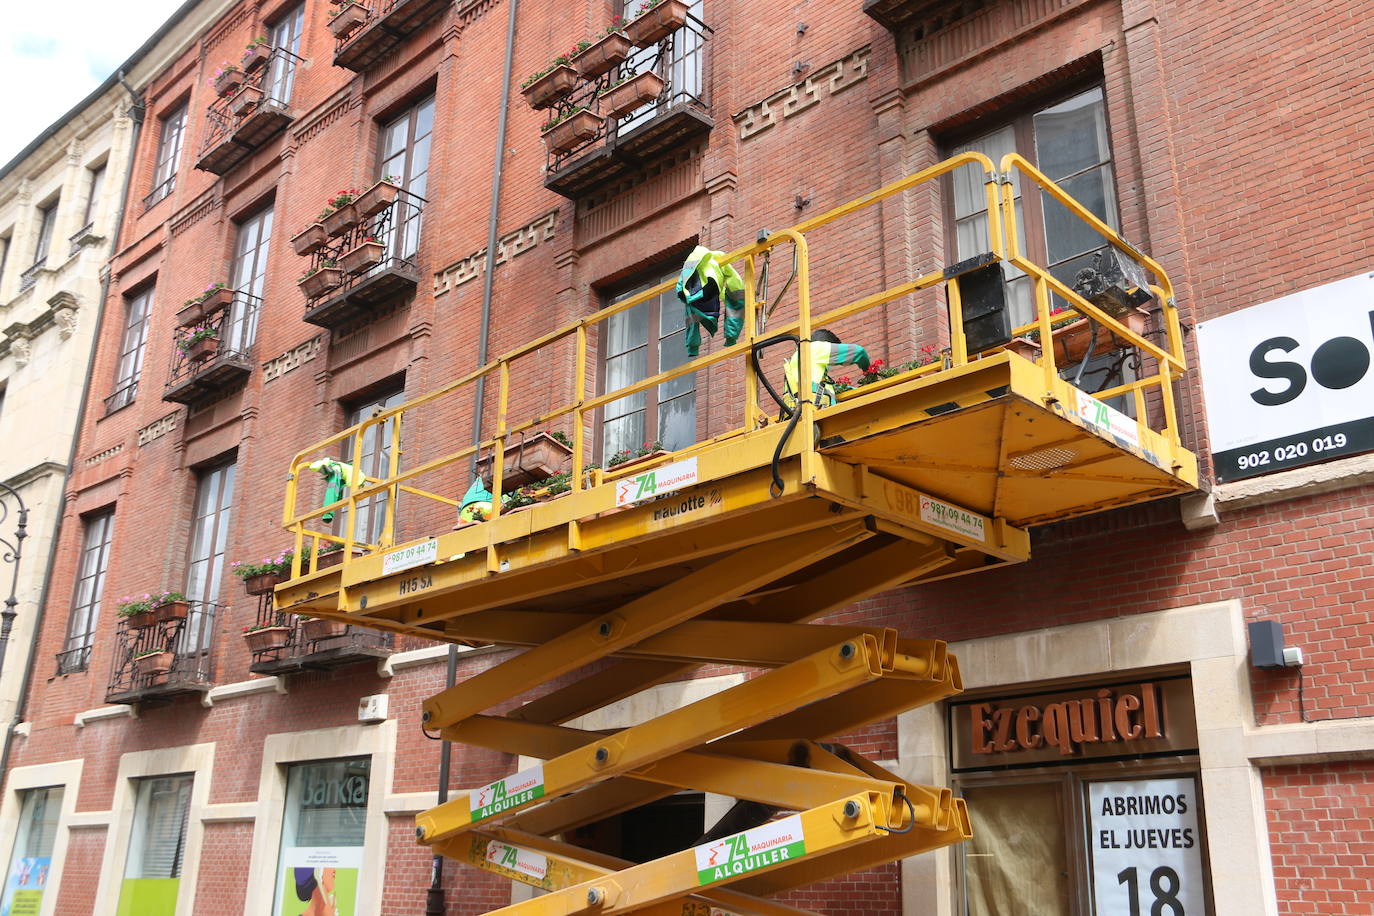
{"label": "flower-box balcony at top centre, just right of the central drainpipe", "polygon": [[[574,117],[578,108],[602,117],[595,133],[576,146],[548,146],[544,187],[566,198],[578,198],[616,179],[631,174],[654,157],[680,148],[691,137],[708,133],[710,119],[706,92],[706,41],[710,26],[688,14],[687,22],[657,44],[633,51],[609,73],[581,84],[555,103],[551,115]],[[658,98],[611,117],[606,92],[629,77],[655,73],[664,81]]]}

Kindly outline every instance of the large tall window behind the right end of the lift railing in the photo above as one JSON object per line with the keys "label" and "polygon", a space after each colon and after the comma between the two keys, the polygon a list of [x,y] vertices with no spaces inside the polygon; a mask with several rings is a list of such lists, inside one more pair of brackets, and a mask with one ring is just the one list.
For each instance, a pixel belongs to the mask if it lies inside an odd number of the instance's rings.
{"label": "large tall window behind the right end of the lift railing", "polygon": [[[1116,184],[1101,88],[1024,114],[952,152],[966,150],[982,152],[993,162],[1007,152],[1020,152],[1098,218],[1117,227]],[[1106,247],[1102,236],[1047,194],[1022,196],[1015,172],[1013,183],[1017,232],[1026,253],[1072,286],[1074,275],[1092,264],[1094,253]],[[988,220],[982,202],[982,172],[959,169],[954,181],[958,260],[988,250]],[[1002,269],[1007,277],[1011,323],[1026,324],[1035,317],[1030,279],[1010,265],[1003,264]]]}

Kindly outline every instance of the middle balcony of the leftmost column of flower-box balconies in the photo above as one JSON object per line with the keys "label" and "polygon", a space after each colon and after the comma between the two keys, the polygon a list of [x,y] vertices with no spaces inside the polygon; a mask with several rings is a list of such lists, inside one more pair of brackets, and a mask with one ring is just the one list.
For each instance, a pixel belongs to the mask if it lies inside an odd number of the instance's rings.
{"label": "middle balcony of the leftmost column of flower-box balconies", "polygon": [[262,299],[235,290],[212,314],[184,319],[176,331],[164,401],[196,404],[229,391],[253,372],[253,341]]}

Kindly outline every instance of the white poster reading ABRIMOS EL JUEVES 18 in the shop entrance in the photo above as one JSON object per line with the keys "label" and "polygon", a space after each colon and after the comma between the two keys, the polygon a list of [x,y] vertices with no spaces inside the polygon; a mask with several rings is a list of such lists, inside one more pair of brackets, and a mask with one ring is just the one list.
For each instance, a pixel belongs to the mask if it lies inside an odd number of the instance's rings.
{"label": "white poster reading ABRIMOS EL JUEVES 18 in the shop entrance", "polygon": [[1096,916],[1202,916],[1197,780],[1088,784],[1088,847]]}

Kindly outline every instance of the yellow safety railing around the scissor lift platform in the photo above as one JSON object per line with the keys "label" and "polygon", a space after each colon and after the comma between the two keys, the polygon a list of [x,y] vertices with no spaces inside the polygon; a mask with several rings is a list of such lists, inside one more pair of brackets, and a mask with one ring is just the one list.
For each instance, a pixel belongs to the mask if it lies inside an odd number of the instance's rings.
{"label": "yellow safety railing around the scissor lift platform", "polygon": [[[919,185],[940,181],[944,176],[952,173],[959,168],[978,168],[984,174],[984,211],[988,221],[988,251],[992,255],[992,262],[1004,261],[1013,264],[1026,275],[1029,275],[1035,282],[1036,291],[1036,320],[1017,331],[1026,331],[1030,328],[1037,328],[1041,341],[1051,342],[1051,319],[1050,319],[1050,291],[1052,290],[1059,297],[1062,297],[1070,305],[1070,313],[1077,313],[1087,317],[1091,321],[1105,325],[1114,336],[1127,342],[1128,345],[1136,347],[1143,354],[1151,357],[1158,371],[1154,375],[1140,376],[1125,385],[1120,385],[1106,391],[1095,393],[1096,397],[1114,397],[1117,394],[1131,393],[1136,402],[1136,417],[1138,423],[1146,426],[1146,401],[1145,393],[1147,390],[1157,389],[1160,393],[1161,413],[1164,416],[1162,431],[1169,438],[1171,444],[1178,446],[1178,427],[1175,423],[1173,411],[1173,394],[1172,382],[1183,371],[1183,346],[1182,336],[1179,331],[1178,312],[1173,305],[1173,287],[1169,283],[1164,269],[1153,260],[1147,258],[1142,253],[1136,251],[1128,242],[1125,242],[1120,235],[1117,235],[1110,227],[1102,222],[1096,216],[1083,207],[1080,203],[1073,201],[1068,194],[1065,194],[1058,185],[1050,181],[1044,174],[1037,172],[1029,162],[1018,155],[1007,155],[1000,163],[1000,169],[993,165],[993,162],[980,154],[980,152],[963,152],[934,166],[916,172],[900,181],[889,184],[872,194],[851,201],[842,206],[838,206],[827,213],[822,213],[811,220],[807,220],[790,229],[783,229],[780,232],[774,232],[768,238],[747,244],[742,249],[731,251],[725,255],[725,260],[731,264],[741,264],[743,269],[741,271],[745,280],[745,314],[743,314],[743,331],[741,339],[732,346],[723,346],[712,353],[706,353],[694,360],[690,360],[682,365],[672,369],[665,369],[655,375],[647,376],[632,385],[622,386],[616,390],[603,391],[600,394],[589,394],[589,372],[592,367],[588,365],[588,338],[591,331],[598,325],[605,324],[613,316],[622,312],[628,312],[636,305],[646,302],[657,295],[661,295],[673,288],[675,280],[665,280],[664,283],[638,293],[632,297],[625,298],[621,302],[610,305],[594,314],[588,314],[578,321],[569,325],[551,331],[523,346],[506,353],[486,365],[477,368],[467,375],[463,375],[453,382],[429,393],[407,401],[398,407],[381,411],[374,416],[346,428],[335,433],[334,435],[311,445],[309,448],[297,453],[291,460],[289,482],[286,489],[286,503],[283,507],[283,526],[295,534],[295,559],[293,562],[291,575],[293,578],[300,577],[305,573],[315,573],[317,570],[319,551],[323,544],[337,544],[344,551],[342,562],[346,564],[353,556],[353,551],[363,548],[367,551],[385,549],[394,545],[394,527],[396,527],[396,504],[397,496],[400,493],[408,493],[411,496],[431,500],[444,505],[458,507],[459,501],[451,496],[441,493],[434,493],[431,490],[420,489],[414,486],[414,481],[426,474],[440,471],[447,467],[453,467],[462,461],[474,460],[474,456],[489,453],[492,456],[492,481],[491,492],[495,494],[492,503],[492,518],[502,514],[500,494],[502,483],[506,467],[506,453],[511,442],[511,437],[522,435],[529,430],[545,428],[551,422],[559,420],[561,417],[567,417],[572,423],[572,475],[569,485],[573,490],[581,490],[588,486],[598,486],[609,479],[617,477],[614,468],[607,470],[588,470],[587,467],[587,441],[585,433],[588,426],[588,419],[595,416],[595,411],[603,408],[613,401],[629,397],[638,393],[651,391],[657,386],[679,379],[702,369],[708,369],[713,365],[723,364],[730,360],[747,360],[752,349],[756,343],[763,339],[780,336],[780,335],[796,335],[800,338],[800,360],[798,360],[798,391],[809,391],[811,379],[811,334],[812,330],[827,323],[840,321],[842,319],[867,312],[870,309],[894,302],[903,297],[911,295],[921,290],[940,286],[948,280],[943,269],[937,269],[907,282],[899,283],[886,290],[860,297],[857,299],[845,302],[834,309],[824,312],[813,312],[811,304],[811,255],[808,249],[808,233],[816,229],[834,224],[845,217],[855,213],[872,207],[882,201],[886,201],[894,195],[911,191]],[[1070,213],[1080,218],[1084,224],[1091,227],[1096,233],[1099,233],[1103,240],[1127,257],[1134,258],[1143,266],[1146,266],[1156,277],[1156,286],[1151,290],[1158,297],[1165,317],[1167,341],[1162,346],[1153,343],[1145,336],[1136,334],[1131,328],[1125,327],[1110,314],[1102,309],[1094,306],[1092,304],[1083,299],[1072,288],[1065,286],[1062,282],[1057,280],[1046,268],[1030,261],[1021,247],[1021,240],[1017,236],[1015,229],[1015,210],[1014,210],[1014,195],[1010,183],[1011,170],[1021,173],[1022,179],[1030,184],[1041,188],[1046,194],[1051,195],[1055,201],[1062,203]],[[756,297],[757,279],[760,276],[761,264],[760,260],[764,254],[771,253],[774,249],[782,246],[790,246],[793,249],[796,276],[794,283],[789,283],[787,288],[796,287],[796,305],[797,313],[791,320],[779,324],[776,327],[768,328],[767,334],[760,332],[757,317],[760,309],[765,309],[768,304],[758,302]],[[945,350],[944,358],[929,365],[922,365],[914,368],[908,372],[901,374],[894,379],[886,379],[877,385],[866,386],[859,391],[848,393],[851,397],[860,396],[867,397],[868,393],[881,391],[893,383],[910,380],[911,378],[922,375],[933,375],[941,372],[947,368],[956,368],[965,365],[970,360],[981,358],[987,354],[967,352],[967,343],[963,335],[962,323],[962,304],[958,295],[958,286],[949,284],[948,297],[948,313],[949,313],[949,334],[951,346]],[[776,302],[774,302],[776,306]],[[514,420],[510,416],[510,401],[513,390],[513,365],[521,358],[530,357],[540,352],[548,352],[556,345],[567,345],[573,347],[573,396],[570,401],[566,401],[554,409],[545,411],[539,416],[532,416],[528,419]],[[1002,349],[1002,347],[995,347]],[[1058,379],[1058,367],[1055,365],[1054,346],[1047,345],[1041,347],[1039,356],[1039,364],[1046,374],[1046,391],[1047,394],[1054,390],[1054,382]],[[496,416],[495,416],[495,434],[473,445],[456,449],[453,452],[433,457],[427,461],[422,461],[407,470],[401,470],[401,430],[407,417],[412,416],[416,411],[434,405],[436,402],[460,398],[464,396],[471,397],[477,390],[477,383],[480,379],[491,379],[496,383]],[[754,374],[745,367],[743,371],[743,398],[742,411],[739,415],[739,426],[725,430],[717,435],[708,439],[698,441],[691,446],[676,452],[673,456],[665,457],[664,461],[677,460],[682,456],[687,456],[721,439],[747,433],[765,423],[768,417],[765,411],[758,404],[758,382]],[[841,405],[842,407],[842,405]],[[800,401],[800,423],[802,428],[805,424],[813,423],[818,415],[816,404],[811,398],[801,398]],[[837,409],[837,408],[824,408]],[[345,444],[350,445],[352,455],[361,455],[364,439],[368,437],[370,431],[376,430],[378,444],[381,444],[381,437],[385,434],[389,444],[389,461],[386,467],[385,477],[367,477],[361,486],[349,488],[345,497],[334,503],[320,505],[319,508],[309,511],[298,511],[297,501],[300,493],[300,485],[302,474],[306,466],[316,457],[337,457],[338,449]],[[798,437],[798,449],[802,461],[802,477],[807,478],[809,470],[813,467],[816,460],[815,444],[811,435]],[[643,470],[643,466],[636,466],[635,472]],[[629,472],[627,470],[627,472]],[[382,531],[376,542],[363,542],[354,538],[353,530],[356,527],[356,519],[359,514],[359,504],[376,497],[378,494],[389,493],[386,499],[385,516],[382,523]],[[322,530],[323,526],[313,525],[316,519],[326,514],[342,514],[345,518],[345,533],[335,534],[333,531]],[[308,562],[304,562],[309,558]]]}

